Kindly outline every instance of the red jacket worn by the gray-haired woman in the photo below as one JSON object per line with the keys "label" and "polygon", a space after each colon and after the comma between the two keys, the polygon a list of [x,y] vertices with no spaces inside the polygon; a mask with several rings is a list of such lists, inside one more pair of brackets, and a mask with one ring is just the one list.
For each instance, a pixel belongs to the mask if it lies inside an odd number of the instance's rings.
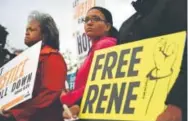
{"label": "red jacket worn by the gray-haired woman", "polygon": [[10,110],[17,121],[62,121],[59,96],[65,88],[67,67],[61,54],[43,47],[32,99]]}

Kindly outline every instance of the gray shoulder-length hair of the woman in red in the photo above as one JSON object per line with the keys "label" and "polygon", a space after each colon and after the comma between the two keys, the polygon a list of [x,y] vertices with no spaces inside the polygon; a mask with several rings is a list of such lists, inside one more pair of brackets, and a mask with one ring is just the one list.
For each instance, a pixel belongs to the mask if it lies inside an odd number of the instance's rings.
{"label": "gray shoulder-length hair of the woman in red", "polygon": [[59,50],[59,30],[54,19],[49,14],[33,11],[28,17],[28,22],[32,20],[40,23],[43,45]]}

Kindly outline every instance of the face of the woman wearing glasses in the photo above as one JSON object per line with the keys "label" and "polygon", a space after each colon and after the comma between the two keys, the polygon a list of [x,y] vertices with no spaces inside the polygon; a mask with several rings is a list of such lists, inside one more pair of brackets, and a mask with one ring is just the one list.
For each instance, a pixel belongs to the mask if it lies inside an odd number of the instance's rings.
{"label": "face of the woman wearing glasses", "polygon": [[110,25],[99,10],[91,9],[85,17],[84,29],[88,37],[95,39],[105,36],[110,29]]}

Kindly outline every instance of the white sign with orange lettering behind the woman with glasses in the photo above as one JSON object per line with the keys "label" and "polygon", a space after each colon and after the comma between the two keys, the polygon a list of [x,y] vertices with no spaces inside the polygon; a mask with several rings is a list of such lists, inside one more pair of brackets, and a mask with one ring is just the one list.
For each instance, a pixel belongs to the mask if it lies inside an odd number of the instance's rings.
{"label": "white sign with orange lettering behind the woman with glasses", "polygon": [[84,31],[84,18],[87,11],[96,5],[95,0],[74,0],[73,37],[77,42],[78,63],[82,63],[90,49],[90,41]]}

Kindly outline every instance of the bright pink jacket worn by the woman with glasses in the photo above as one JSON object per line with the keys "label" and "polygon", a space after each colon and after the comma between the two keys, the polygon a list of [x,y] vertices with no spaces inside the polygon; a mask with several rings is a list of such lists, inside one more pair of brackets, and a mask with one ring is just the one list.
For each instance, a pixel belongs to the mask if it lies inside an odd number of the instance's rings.
{"label": "bright pink jacket worn by the woman with glasses", "polygon": [[84,63],[82,64],[82,66],[77,72],[75,79],[75,89],[67,93],[66,95],[61,96],[60,97],[61,103],[71,106],[82,98],[86,86],[87,78],[89,75],[92,59],[94,56],[94,52],[96,50],[114,46],[116,45],[116,41],[117,40],[112,37],[103,37],[92,44],[88,56],[86,57]]}

